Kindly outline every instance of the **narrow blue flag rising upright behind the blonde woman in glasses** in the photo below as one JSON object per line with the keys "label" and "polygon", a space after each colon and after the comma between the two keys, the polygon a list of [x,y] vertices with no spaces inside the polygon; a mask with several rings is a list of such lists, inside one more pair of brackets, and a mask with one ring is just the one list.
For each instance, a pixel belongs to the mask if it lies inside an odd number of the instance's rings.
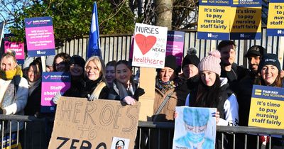
{"label": "narrow blue flag rising upright behind the blonde woman in glasses", "polygon": [[87,58],[92,56],[102,57],[99,45],[99,21],[97,17],[97,3],[94,2],[92,11],[91,30],[89,31],[89,45],[87,50]]}

